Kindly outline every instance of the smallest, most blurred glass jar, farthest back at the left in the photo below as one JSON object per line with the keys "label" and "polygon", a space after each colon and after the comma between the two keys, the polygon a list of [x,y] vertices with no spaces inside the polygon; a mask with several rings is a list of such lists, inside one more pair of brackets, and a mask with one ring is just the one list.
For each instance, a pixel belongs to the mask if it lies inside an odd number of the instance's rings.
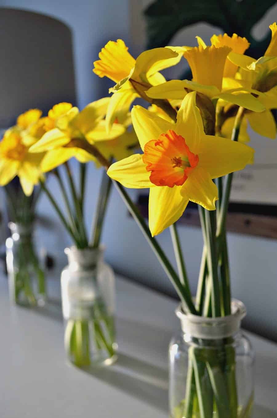
{"label": "smallest, most blurred glass jar, farthest back at the left", "polygon": [[46,285],[43,249],[33,234],[33,224],[8,224],[11,237],[6,240],[6,263],[10,300],[23,306],[44,306]]}

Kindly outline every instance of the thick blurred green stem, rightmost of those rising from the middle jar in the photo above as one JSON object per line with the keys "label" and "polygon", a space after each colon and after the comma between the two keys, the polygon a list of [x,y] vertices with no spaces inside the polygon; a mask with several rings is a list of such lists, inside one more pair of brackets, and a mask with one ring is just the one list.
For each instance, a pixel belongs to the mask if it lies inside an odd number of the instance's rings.
{"label": "thick blurred green stem, rightmost of those rising from the middle jar", "polygon": [[90,237],[89,245],[93,248],[98,248],[100,244],[104,217],[105,217],[105,213],[107,209],[107,204],[109,201],[111,187],[112,187],[112,180],[109,176],[107,176],[106,171],[104,171],[101,184],[100,184],[99,194],[98,194],[95,217],[94,217],[92,228],[91,228],[91,237]]}

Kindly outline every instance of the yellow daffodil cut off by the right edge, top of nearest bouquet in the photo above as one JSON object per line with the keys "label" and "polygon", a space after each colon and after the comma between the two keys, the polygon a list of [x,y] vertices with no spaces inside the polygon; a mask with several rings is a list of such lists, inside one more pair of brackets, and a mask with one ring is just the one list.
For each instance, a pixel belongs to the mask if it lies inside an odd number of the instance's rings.
{"label": "yellow daffodil cut off by the right edge, top of nearest bouquet", "polygon": [[[276,123],[270,112],[277,108],[277,25],[270,25],[272,39],[265,51],[265,55],[254,59],[246,55],[234,52],[229,54],[228,60],[233,65],[239,66],[236,74],[237,85],[255,89],[259,95],[259,101],[265,106],[265,111],[260,114],[246,112],[245,118],[250,122],[253,130],[268,138],[276,138]],[[234,80],[226,79],[225,85],[232,87]]]}

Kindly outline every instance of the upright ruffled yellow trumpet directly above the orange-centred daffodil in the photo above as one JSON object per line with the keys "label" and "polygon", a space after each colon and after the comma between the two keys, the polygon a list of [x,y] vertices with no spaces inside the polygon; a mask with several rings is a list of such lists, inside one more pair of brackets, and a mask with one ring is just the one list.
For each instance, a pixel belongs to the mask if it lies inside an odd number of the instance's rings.
{"label": "upright ruffled yellow trumpet directly above the orange-centred daffodil", "polygon": [[207,46],[202,48],[198,46],[184,53],[192,70],[193,81],[205,84],[207,86],[215,86],[221,91],[223,70],[227,55],[231,48],[222,46]]}

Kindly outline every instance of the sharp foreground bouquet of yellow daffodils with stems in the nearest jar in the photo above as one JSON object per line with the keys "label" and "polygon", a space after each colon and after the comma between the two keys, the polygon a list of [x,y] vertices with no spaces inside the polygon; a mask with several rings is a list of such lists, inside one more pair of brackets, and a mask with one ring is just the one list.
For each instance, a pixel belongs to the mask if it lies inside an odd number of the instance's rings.
{"label": "sharp foreground bouquet of yellow daffodils with stems in the nearest jar", "polygon": [[[244,55],[250,45],[236,34],[212,36],[211,45],[197,36],[199,46],[167,46],[145,51],[137,59],[122,40],[102,48],[94,72],[116,84],[107,109],[107,131],[121,120],[136,97],[148,110],[133,106],[132,124],[142,153],[113,163],[107,173],[139,224],[180,296],[182,313],[198,317],[232,314],[226,217],[232,173],[254,161],[246,126],[274,139],[277,107],[277,25],[260,59]],[[192,80],[166,81],[160,70],[184,57]],[[128,196],[127,188],[149,188],[149,228]],[[175,222],[189,201],[199,207],[203,252],[196,298],[192,297]],[[170,227],[177,260],[175,272],[154,236]],[[207,340],[208,344],[215,344]],[[217,342],[218,343],[218,342]],[[195,339],[201,345],[201,340]],[[208,347],[209,348],[209,347]],[[197,354],[196,354],[197,353]],[[235,347],[232,339],[216,351],[189,352],[183,399],[171,410],[174,418],[248,417],[252,393],[240,405]],[[223,359],[223,360],[222,360]]]}

